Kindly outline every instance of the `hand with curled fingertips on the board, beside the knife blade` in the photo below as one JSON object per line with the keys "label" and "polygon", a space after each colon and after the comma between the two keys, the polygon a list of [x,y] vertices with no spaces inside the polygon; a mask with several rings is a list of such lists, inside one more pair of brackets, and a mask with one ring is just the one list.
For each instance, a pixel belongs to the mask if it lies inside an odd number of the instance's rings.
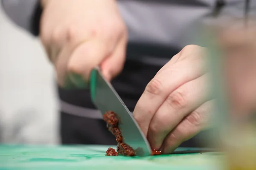
{"label": "hand with curled fingertips on the board, beside the knife blade", "polygon": [[208,74],[205,48],[188,45],[148,83],[133,114],[152,149],[172,153],[207,127]]}

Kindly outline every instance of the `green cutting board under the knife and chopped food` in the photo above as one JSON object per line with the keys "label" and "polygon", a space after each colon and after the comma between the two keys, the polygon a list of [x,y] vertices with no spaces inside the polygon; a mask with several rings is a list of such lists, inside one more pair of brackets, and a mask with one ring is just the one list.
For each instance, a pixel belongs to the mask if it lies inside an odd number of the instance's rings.
{"label": "green cutting board under the knife and chopped food", "polygon": [[[220,170],[221,153],[181,153],[147,157],[105,156],[109,146],[0,145],[0,170]],[[113,146],[114,148],[114,146]],[[184,152],[184,153],[182,153]]]}

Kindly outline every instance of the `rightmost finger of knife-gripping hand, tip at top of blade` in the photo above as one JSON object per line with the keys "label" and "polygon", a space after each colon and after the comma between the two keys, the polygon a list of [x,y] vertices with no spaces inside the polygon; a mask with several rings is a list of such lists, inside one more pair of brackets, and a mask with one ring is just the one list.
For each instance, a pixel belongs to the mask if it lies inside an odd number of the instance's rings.
{"label": "rightmost finger of knife-gripping hand, tip at top of blade", "polygon": [[115,51],[110,57],[101,63],[102,74],[109,81],[116,77],[121,71],[125,63],[125,52],[127,45],[127,37],[124,36],[116,46]]}

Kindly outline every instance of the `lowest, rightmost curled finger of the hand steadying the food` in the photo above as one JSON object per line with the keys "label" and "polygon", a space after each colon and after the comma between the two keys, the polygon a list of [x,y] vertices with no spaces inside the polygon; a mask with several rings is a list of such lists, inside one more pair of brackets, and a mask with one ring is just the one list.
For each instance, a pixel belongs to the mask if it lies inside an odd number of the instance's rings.
{"label": "lowest, rightmost curled finger of the hand steadying the food", "polygon": [[183,121],[166,136],[160,150],[164,154],[172,153],[182,142],[208,128],[212,118],[213,107],[214,101],[210,100],[186,116]]}

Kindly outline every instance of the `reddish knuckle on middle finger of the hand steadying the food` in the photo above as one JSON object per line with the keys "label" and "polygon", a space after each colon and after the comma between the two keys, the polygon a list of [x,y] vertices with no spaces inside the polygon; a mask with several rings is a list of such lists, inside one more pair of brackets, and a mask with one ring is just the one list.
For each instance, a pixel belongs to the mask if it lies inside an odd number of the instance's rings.
{"label": "reddish knuckle on middle finger of the hand steadying the food", "polygon": [[174,92],[168,96],[166,102],[173,108],[185,108],[187,106],[187,99],[185,94],[180,91]]}

